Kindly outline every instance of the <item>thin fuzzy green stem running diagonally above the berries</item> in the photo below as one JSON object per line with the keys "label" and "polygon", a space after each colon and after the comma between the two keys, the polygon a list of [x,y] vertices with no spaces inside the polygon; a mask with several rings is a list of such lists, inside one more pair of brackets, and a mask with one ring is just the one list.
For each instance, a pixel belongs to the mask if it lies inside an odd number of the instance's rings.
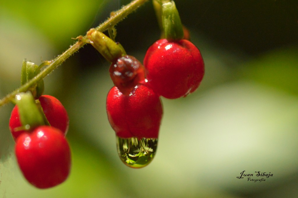
{"label": "thin fuzzy green stem running diagonally above the berries", "polygon": [[[97,26],[95,29],[97,31],[103,32],[107,30],[108,28],[111,28],[115,26],[118,22],[122,21],[127,15],[135,11],[137,8],[139,8],[142,4],[144,4],[148,0],[134,0],[131,1],[131,3],[127,4],[126,6],[122,7],[120,10],[117,10],[116,12],[111,13],[111,17],[108,18],[105,22]],[[29,90],[30,87],[44,79],[49,73],[51,73],[55,68],[57,68],[59,65],[61,65],[67,58],[69,58],[72,54],[77,52],[81,47],[83,47],[86,42],[87,36],[80,36],[78,37],[78,41],[70,46],[69,49],[67,49],[63,54],[60,54],[57,58],[50,61],[50,64],[39,74],[36,75],[35,78],[32,78],[30,81],[28,81],[26,84],[22,85],[20,88],[16,89],[12,93],[5,96],[3,99],[0,100],[0,107],[10,101],[12,101],[15,98],[15,95],[20,92],[26,92]]]}

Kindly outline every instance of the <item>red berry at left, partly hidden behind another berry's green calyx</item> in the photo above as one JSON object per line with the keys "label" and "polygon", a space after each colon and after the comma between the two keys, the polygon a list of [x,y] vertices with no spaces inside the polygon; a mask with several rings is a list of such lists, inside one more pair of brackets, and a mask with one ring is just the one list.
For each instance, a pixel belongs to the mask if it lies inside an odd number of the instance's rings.
{"label": "red berry at left, partly hidden behind another berry's green calyx", "polygon": [[[40,96],[39,101],[50,125],[61,130],[66,135],[69,127],[69,118],[61,102],[57,98],[49,95]],[[14,139],[25,132],[21,130],[21,126],[18,106],[15,105],[9,120],[9,128]]]}

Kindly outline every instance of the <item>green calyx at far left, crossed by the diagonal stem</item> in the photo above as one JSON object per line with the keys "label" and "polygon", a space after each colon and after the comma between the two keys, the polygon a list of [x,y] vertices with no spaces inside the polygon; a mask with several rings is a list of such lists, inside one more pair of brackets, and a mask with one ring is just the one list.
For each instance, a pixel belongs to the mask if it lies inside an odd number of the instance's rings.
{"label": "green calyx at far left, crossed by the diagonal stem", "polygon": [[[34,78],[40,72],[40,67],[32,62],[23,60],[21,71],[21,85],[26,84],[29,80]],[[37,84],[29,89],[35,99],[38,99],[44,93],[44,80],[39,81]]]}

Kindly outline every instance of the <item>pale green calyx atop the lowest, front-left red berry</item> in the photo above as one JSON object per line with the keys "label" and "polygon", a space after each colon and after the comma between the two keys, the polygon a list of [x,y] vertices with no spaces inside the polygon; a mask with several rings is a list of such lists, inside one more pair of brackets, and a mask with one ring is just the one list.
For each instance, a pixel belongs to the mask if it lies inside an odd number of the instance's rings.
{"label": "pale green calyx atop the lowest, front-left red berry", "polygon": [[18,105],[21,124],[26,130],[41,125],[50,125],[44,115],[40,102],[38,100],[35,101],[30,91],[17,94],[15,101],[16,105]]}

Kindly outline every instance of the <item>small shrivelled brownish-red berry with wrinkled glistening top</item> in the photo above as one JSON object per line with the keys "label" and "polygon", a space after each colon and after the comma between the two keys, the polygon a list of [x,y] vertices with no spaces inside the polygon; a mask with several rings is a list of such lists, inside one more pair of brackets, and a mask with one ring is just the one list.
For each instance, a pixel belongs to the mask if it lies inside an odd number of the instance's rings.
{"label": "small shrivelled brownish-red berry with wrinkled glistening top", "polygon": [[129,55],[114,61],[109,72],[114,85],[124,95],[129,95],[134,87],[145,79],[144,66],[135,57]]}

